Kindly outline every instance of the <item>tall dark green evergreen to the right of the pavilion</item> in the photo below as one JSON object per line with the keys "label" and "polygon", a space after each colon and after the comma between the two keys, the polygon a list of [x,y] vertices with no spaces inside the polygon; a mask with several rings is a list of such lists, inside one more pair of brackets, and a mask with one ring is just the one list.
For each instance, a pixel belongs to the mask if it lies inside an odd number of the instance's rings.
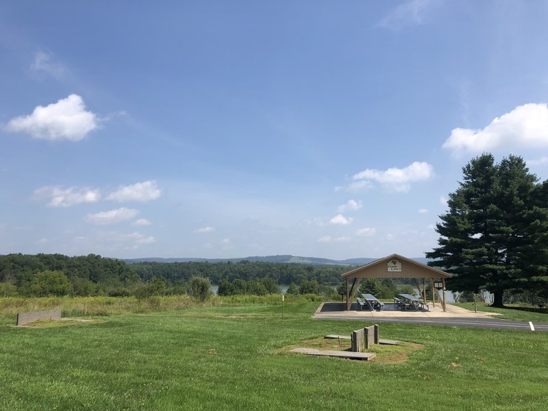
{"label": "tall dark green evergreen to the right of the pavilion", "polygon": [[503,306],[505,290],[540,292],[547,284],[547,185],[537,184],[514,155],[495,164],[493,155],[483,154],[462,171],[449,212],[436,224],[439,247],[426,253],[434,259],[429,265],[455,275],[451,290],[492,292],[493,306]]}

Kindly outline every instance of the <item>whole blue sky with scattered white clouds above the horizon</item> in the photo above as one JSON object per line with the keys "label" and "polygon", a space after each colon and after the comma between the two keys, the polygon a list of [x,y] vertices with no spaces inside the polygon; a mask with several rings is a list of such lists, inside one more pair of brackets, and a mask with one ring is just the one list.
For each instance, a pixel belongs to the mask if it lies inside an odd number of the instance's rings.
{"label": "whole blue sky with scattered white clouds above the horizon", "polygon": [[0,253],[421,257],[548,178],[545,1],[3,1]]}

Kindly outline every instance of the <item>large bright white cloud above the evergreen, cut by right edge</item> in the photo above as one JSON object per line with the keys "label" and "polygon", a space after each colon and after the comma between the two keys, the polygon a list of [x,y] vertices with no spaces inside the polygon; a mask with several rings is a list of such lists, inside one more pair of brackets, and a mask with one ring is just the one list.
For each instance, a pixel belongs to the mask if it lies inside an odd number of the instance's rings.
{"label": "large bright white cloud above the evergreen, cut by right edge", "polygon": [[453,154],[466,151],[482,153],[504,149],[538,149],[548,147],[548,105],[519,105],[497,117],[483,129],[456,128],[443,143]]}

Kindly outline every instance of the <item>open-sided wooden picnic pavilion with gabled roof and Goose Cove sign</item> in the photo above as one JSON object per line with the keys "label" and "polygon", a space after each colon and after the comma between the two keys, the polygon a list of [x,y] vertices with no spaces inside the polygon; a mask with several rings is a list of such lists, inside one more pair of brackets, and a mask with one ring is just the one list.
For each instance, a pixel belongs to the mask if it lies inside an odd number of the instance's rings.
{"label": "open-sided wooden picnic pavilion with gabled roof and Goose Cove sign", "polygon": [[[451,274],[410,258],[392,254],[348,271],[343,274],[343,277],[345,277],[346,284],[347,310],[351,309],[352,301],[356,299],[358,288],[360,288],[360,283],[364,278],[412,278],[417,290],[419,290],[419,295],[425,302],[426,284],[430,282],[432,286],[432,306],[436,306],[437,294],[438,301],[445,311],[445,279],[451,278]],[[442,290],[442,295],[440,295],[440,290]]]}

